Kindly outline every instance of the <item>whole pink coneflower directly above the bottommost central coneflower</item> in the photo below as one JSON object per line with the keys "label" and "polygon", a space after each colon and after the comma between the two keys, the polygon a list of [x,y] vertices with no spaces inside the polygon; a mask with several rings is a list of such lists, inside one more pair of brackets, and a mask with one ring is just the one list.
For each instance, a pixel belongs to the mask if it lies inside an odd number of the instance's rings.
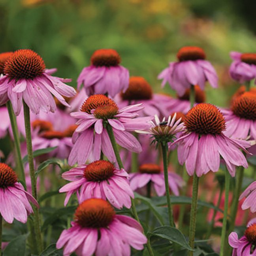
{"label": "whole pink coneflower directly above the bottommost central coneflower", "polygon": [[88,165],[77,166],[62,174],[62,178],[71,183],[60,188],[60,192],[67,192],[64,205],[70,196],[78,192],[78,201],[89,198],[108,200],[116,208],[123,206],[130,208],[134,194],[129,185],[129,175],[124,169],[117,169],[111,162],[98,160]]}

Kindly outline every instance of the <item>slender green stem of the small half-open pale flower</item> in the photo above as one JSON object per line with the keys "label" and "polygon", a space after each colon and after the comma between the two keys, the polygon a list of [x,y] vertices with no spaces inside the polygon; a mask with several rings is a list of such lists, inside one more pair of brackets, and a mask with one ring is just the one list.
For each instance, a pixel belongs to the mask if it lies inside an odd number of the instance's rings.
{"label": "slender green stem of the small half-open pale flower", "polygon": [[163,157],[163,164],[164,164],[164,183],[166,187],[166,200],[167,200],[167,207],[168,207],[168,216],[169,216],[169,225],[174,227],[173,222],[173,213],[171,210],[171,198],[170,198],[170,190],[169,190],[169,182],[168,182],[168,164],[167,164],[167,145],[161,143],[162,148],[162,157]]}

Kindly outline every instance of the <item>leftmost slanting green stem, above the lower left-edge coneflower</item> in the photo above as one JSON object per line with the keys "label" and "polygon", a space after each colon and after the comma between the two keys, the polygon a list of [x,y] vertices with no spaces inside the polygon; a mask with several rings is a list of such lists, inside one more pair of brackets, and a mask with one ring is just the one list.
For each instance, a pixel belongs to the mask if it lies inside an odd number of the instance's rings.
{"label": "leftmost slanting green stem, above the lower left-edge coneflower", "polygon": [[20,144],[20,141],[19,141],[19,132],[18,132],[17,120],[16,120],[16,116],[13,112],[13,107],[11,105],[10,100],[6,103],[6,106],[7,106],[7,109],[8,109],[8,113],[9,113],[9,117],[10,117],[10,121],[11,121],[11,129],[12,129],[12,132],[13,132],[14,147],[15,147],[16,158],[17,158],[17,167],[18,167],[18,169],[21,173],[21,179],[23,181],[23,186],[26,190],[25,171],[24,171],[24,165],[23,165],[23,161],[22,161],[22,157],[21,157],[21,144]]}

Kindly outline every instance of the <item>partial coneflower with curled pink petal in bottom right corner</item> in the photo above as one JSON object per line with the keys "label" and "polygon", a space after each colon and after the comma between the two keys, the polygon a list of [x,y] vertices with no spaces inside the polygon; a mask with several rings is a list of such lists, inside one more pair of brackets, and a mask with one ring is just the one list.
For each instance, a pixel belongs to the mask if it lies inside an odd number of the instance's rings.
{"label": "partial coneflower with curled pink petal in bottom right corner", "polygon": [[228,236],[228,243],[233,247],[232,256],[256,256],[256,223],[249,222],[244,235],[238,239],[237,233]]}

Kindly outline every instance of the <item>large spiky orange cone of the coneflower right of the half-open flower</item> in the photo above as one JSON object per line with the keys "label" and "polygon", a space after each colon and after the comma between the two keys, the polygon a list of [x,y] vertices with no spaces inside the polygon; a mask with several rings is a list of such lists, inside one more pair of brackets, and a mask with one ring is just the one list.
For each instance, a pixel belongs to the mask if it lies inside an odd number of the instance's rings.
{"label": "large spiky orange cone of the coneflower right of the half-open flower", "polygon": [[201,103],[186,114],[184,126],[197,134],[221,134],[226,128],[225,119],[215,105]]}

